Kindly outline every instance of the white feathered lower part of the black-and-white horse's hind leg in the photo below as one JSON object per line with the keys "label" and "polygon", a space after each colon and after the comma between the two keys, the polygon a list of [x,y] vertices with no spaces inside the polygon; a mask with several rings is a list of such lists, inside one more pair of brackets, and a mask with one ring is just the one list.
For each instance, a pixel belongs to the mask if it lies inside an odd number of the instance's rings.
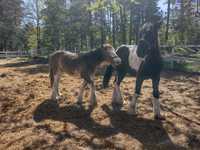
{"label": "white feathered lower part of the black-and-white horse's hind leg", "polygon": [[112,95],[112,102],[117,104],[123,104],[123,99],[120,91],[120,87],[115,83],[115,87]]}

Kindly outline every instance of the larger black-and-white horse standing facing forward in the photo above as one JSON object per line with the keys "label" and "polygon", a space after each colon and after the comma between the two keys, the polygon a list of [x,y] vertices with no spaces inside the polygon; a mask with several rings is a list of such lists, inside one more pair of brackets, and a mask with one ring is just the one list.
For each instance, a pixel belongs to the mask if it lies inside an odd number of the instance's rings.
{"label": "larger black-and-white horse standing facing forward", "polygon": [[135,94],[130,101],[128,113],[137,113],[137,101],[141,92],[142,83],[146,79],[152,80],[153,110],[155,119],[162,119],[159,103],[159,81],[162,70],[162,58],[158,44],[158,30],[161,23],[146,23],[141,30],[141,39],[138,45],[122,45],[117,49],[117,55],[122,63],[116,68],[108,66],[103,79],[103,86],[107,87],[112,72],[116,71],[115,87],[112,103],[122,106],[123,100],[120,92],[120,83],[125,75],[133,71],[136,73]]}

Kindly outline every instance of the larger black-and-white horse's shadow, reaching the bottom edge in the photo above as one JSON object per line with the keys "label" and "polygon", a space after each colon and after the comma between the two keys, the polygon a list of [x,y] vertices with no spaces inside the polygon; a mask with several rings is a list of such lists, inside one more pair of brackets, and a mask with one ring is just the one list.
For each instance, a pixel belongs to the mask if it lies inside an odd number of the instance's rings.
{"label": "larger black-and-white horse's shadow, reaching the bottom edge", "polygon": [[172,142],[159,120],[139,118],[122,110],[113,111],[107,105],[102,109],[109,115],[114,128],[140,141],[144,149],[185,149]]}

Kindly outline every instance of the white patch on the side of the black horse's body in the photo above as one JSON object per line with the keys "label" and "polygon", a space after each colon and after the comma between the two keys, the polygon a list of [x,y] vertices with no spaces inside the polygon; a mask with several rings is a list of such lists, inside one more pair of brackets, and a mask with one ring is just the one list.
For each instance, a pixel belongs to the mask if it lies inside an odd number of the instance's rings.
{"label": "white patch on the side of the black horse's body", "polygon": [[136,53],[137,45],[132,45],[128,47],[129,47],[129,66],[135,71],[138,71],[144,58],[138,57]]}

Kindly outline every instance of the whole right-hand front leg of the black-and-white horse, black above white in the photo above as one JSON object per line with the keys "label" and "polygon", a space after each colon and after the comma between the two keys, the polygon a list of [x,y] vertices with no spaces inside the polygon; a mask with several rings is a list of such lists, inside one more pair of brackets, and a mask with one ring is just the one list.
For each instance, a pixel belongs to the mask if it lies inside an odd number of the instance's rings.
{"label": "whole right-hand front leg of the black-and-white horse, black above white", "polygon": [[159,82],[160,77],[152,79],[152,85],[153,85],[153,111],[154,111],[154,118],[155,119],[164,119],[160,114],[160,102],[159,102]]}

